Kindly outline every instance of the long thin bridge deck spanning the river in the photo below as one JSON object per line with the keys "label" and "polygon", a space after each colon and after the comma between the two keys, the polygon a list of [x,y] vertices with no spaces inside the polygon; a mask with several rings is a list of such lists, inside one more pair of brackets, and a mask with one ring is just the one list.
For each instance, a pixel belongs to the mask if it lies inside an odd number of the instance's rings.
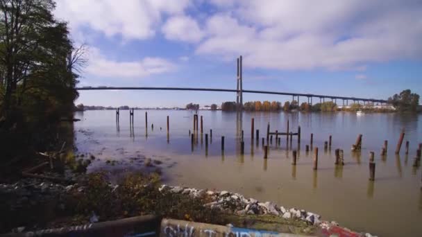
{"label": "long thin bridge deck spanning the river", "polygon": [[[238,92],[236,89],[216,89],[216,88],[192,88],[192,87],[77,87],[78,91],[87,91],[87,90],[165,90],[165,91],[221,91],[221,92]],[[258,90],[249,90],[243,89],[244,93],[256,93],[256,94],[274,94],[281,96],[303,96],[308,98],[331,98],[331,99],[340,99],[340,100],[360,100],[360,101],[369,101],[375,103],[387,103],[387,100],[378,100],[374,98],[356,98],[356,97],[347,97],[347,96],[328,96],[328,95],[319,95],[319,94],[301,94],[301,93],[290,93],[290,92],[278,92],[278,91],[258,91]]]}

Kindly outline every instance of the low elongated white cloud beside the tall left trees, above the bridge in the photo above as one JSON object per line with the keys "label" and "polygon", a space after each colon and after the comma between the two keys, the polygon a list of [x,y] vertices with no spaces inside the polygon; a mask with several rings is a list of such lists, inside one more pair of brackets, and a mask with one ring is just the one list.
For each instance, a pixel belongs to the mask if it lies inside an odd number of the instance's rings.
{"label": "low elongated white cloud beside the tall left trees, above the bridge", "polygon": [[85,69],[87,73],[110,78],[142,78],[176,69],[172,62],[163,58],[147,57],[133,62],[110,60],[101,55],[96,48],[90,49],[88,60],[89,65]]}

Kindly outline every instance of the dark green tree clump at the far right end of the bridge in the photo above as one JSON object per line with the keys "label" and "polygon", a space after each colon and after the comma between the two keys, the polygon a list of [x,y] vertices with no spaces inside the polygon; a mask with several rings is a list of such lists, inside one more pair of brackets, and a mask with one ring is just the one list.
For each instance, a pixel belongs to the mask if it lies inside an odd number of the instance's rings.
{"label": "dark green tree clump at the far right end of the bridge", "polygon": [[400,94],[394,94],[388,101],[399,111],[416,112],[419,105],[419,98],[419,94],[412,93],[410,89],[406,89],[401,91]]}

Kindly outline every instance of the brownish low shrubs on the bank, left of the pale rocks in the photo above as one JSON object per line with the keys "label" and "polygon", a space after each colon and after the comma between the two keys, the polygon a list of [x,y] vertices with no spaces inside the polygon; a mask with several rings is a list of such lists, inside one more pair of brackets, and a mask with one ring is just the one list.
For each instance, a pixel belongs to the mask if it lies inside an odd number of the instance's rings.
{"label": "brownish low shrubs on the bank, left of the pale rocks", "polygon": [[78,213],[91,215],[94,211],[102,221],[155,214],[180,220],[223,224],[221,213],[204,207],[205,202],[200,198],[159,191],[160,177],[155,173],[127,175],[117,187],[108,184],[106,180],[105,173],[88,175],[84,184],[85,192],[76,193],[72,198]]}

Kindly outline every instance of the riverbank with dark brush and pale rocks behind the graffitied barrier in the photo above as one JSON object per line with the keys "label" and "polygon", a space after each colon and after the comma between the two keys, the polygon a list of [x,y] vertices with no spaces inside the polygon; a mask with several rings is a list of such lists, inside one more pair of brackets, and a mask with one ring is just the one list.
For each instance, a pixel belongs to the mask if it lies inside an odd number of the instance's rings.
{"label": "riverbank with dark brush and pale rocks behind the graffitied barrier", "polygon": [[0,184],[3,200],[0,204],[0,233],[155,214],[280,233],[329,236],[330,231],[337,228],[335,231],[341,229],[351,236],[371,236],[338,227],[336,222],[324,221],[316,213],[259,202],[239,193],[167,186],[160,183],[158,173],[127,174],[113,184],[105,172],[90,175],[67,173],[67,179],[67,184],[37,178]]}

